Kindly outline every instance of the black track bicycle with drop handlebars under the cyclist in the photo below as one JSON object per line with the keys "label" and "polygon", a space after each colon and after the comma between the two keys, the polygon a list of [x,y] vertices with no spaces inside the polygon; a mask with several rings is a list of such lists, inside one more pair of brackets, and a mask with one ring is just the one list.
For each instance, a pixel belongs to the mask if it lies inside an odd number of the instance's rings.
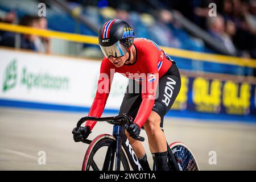
{"label": "black track bicycle with drop handlebars under the cyclist", "polygon": [[[133,147],[129,143],[125,135],[125,126],[133,123],[127,114],[121,114],[116,117],[83,117],[77,122],[80,127],[85,121],[104,121],[113,126],[113,134],[101,134],[93,140],[86,139],[84,143],[89,144],[82,163],[82,171],[143,171],[139,160],[135,155]],[[143,137],[134,138],[144,141]],[[167,143],[168,149],[168,169],[170,171],[197,171],[199,166],[196,162],[192,151],[182,142],[174,142],[170,145]],[[96,158],[102,158],[102,152],[105,156],[104,160],[97,163]],[[104,157],[103,156],[103,157]],[[129,165],[130,164],[130,165]],[[155,165],[152,168],[156,170]]]}

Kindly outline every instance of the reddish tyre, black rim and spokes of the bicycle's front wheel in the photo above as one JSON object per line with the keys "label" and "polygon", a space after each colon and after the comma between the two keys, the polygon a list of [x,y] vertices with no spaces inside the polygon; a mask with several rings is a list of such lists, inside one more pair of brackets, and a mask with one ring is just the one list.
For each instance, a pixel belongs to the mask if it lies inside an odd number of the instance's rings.
{"label": "reddish tyre, black rim and spokes of the bicycle's front wheel", "polygon": [[[102,147],[108,147],[106,154],[108,154],[109,152],[110,156],[108,157],[112,158],[112,160],[108,159],[106,155],[104,164],[106,162],[107,166],[103,164],[101,170],[113,171],[115,146],[116,146],[116,141],[112,135],[109,135],[109,134],[98,135],[98,137],[92,140],[92,143],[90,143],[88,149],[86,150],[84,162],[82,163],[82,171],[89,171],[90,169],[93,169],[94,171],[100,171],[100,168],[97,166],[97,164],[93,160],[93,156]],[[123,166],[123,169],[125,171],[130,171],[129,163],[127,161],[127,156],[125,155],[123,147],[121,150],[121,165]]]}

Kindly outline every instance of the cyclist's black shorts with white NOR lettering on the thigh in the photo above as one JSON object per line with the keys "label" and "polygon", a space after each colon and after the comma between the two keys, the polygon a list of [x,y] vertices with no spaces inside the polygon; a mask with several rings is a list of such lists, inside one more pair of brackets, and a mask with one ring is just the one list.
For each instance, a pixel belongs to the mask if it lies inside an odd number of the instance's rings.
{"label": "cyclist's black shorts with white NOR lettering on the thigh", "polygon": [[[179,69],[172,64],[170,69],[159,79],[158,92],[153,111],[161,117],[160,127],[163,127],[164,115],[171,109],[177,95],[180,92],[181,80]],[[137,81],[129,80],[125,96],[119,110],[119,114],[127,113],[133,119],[136,117],[142,102],[141,85]]]}

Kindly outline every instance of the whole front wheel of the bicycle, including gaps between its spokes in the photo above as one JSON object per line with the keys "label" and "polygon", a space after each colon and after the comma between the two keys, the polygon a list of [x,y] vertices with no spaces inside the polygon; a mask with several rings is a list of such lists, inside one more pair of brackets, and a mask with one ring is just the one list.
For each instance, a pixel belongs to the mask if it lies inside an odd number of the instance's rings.
{"label": "whole front wheel of the bicycle, including gaps between its spokes", "polygon": [[[82,171],[113,171],[116,141],[112,135],[98,135],[90,143],[82,163]],[[130,171],[125,152],[121,150],[121,170]]]}

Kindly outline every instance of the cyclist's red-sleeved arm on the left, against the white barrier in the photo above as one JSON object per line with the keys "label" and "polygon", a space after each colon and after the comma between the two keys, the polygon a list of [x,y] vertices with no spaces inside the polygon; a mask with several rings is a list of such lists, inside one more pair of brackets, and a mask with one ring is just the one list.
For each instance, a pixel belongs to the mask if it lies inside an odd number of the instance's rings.
{"label": "cyclist's red-sleeved arm on the left, against the white barrier", "polygon": [[[105,58],[106,59],[106,58]],[[96,96],[94,98],[93,104],[90,107],[90,111],[88,116],[91,117],[101,117],[106,101],[109,97],[110,87],[112,83],[112,77],[110,76],[110,67],[108,64],[108,60],[102,60],[101,63],[101,71],[100,71],[100,78],[98,79],[98,86],[96,91]],[[86,121],[85,126],[90,128],[92,131],[94,125],[96,125],[97,121]]]}

